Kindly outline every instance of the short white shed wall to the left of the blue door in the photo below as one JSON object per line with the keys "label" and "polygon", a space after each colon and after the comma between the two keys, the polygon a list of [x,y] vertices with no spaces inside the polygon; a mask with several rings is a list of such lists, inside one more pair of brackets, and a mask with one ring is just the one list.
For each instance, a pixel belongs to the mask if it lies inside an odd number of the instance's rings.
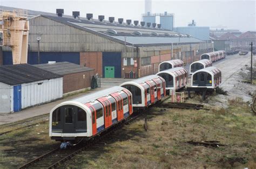
{"label": "short white shed wall to the left of the blue door", "polygon": [[14,103],[12,101],[13,90],[14,88],[12,86],[0,82],[0,113],[8,113],[14,110]]}

